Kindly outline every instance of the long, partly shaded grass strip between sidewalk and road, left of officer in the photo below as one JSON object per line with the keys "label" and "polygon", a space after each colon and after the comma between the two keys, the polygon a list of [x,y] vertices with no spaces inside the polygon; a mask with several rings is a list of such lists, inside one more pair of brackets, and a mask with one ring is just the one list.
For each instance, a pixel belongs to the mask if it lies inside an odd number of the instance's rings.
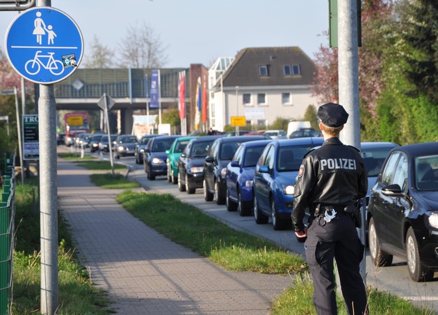
{"label": "long, partly shaded grass strip between sidewalk and road, left of officer", "polygon": [[117,201],[177,244],[228,270],[286,275],[307,270],[304,259],[266,239],[238,232],[170,194],[124,191]]}

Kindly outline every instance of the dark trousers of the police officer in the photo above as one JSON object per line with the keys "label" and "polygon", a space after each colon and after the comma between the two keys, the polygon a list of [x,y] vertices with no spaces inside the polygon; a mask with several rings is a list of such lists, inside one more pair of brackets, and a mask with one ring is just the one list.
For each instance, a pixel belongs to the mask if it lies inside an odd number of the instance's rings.
{"label": "dark trousers of the police officer", "polygon": [[325,221],[316,218],[307,231],[306,259],[314,282],[316,312],[318,315],[338,314],[333,264],[336,259],[348,314],[368,314],[366,288],[359,272],[364,246],[350,216],[343,212],[336,216],[324,226]]}

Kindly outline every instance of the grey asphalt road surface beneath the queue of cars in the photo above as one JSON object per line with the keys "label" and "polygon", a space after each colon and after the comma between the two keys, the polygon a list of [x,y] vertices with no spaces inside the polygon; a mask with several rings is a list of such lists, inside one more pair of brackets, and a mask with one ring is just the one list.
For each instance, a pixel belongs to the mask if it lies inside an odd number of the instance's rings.
{"label": "grey asphalt road surface beneath the queue of cars", "polygon": [[[97,153],[93,154],[99,156]],[[109,160],[108,153],[103,155],[103,158]],[[172,185],[165,176],[157,176],[156,180],[148,180],[143,164],[136,164],[133,157],[122,157],[120,160],[114,161],[115,163],[127,164],[130,168],[129,178],[138,182],[147,191],[172,194],[236,230],[270,239],[286,250],[304,255],[303,245],[296,241],[291,230],[275,231],[270,222],[265,225],[257,225],[252,216],[240,216],[237,212],[228,212],[225,205],[216,205],[214,201],[204,201],[202,189],[196,189],[195,194],[179,191],[177,185]],[[413,282],[409,277],[406,262],[397,257],[394,257],[392,266],[377,268],[373,266],[367,253],[365,264],[366,284],[368,286],[371,285],[380,291],[388,291],[412,300],[416,305],[427,305],[438,314],[438,273],[435,273],[435,279],[432,282],[418,283]]]}

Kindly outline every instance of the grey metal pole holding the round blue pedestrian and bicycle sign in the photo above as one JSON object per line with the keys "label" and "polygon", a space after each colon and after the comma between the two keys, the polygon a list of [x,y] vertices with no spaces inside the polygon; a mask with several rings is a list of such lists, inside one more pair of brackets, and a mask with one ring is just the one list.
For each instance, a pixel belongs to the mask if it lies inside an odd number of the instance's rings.
{"label": "grey metal pole holding the round blue pedestrian and bicycle sign", "polygon": [[[38,0],[38,6],[51,6],[51,0]],[[56,103],[54,85],[40,85],[38,99],[40,133],[40,242],[41,314],[58,309],[58,190],[56,172]]]}

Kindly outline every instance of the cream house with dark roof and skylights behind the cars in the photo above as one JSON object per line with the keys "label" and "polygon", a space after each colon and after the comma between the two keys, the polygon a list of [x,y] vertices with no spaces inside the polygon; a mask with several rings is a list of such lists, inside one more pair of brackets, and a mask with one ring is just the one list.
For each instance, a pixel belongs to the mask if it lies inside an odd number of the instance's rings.
{"label": "cream house with dark roof and skylights behind the cars", "polygon": [[245,116],[255,130],[277,117],[302,119],[309,105],[318,105],[309,88],[314,74],[314,62],[298,46],[242,49],[223,71],[209,70],[209,126],[223,130],[231,117]]}

